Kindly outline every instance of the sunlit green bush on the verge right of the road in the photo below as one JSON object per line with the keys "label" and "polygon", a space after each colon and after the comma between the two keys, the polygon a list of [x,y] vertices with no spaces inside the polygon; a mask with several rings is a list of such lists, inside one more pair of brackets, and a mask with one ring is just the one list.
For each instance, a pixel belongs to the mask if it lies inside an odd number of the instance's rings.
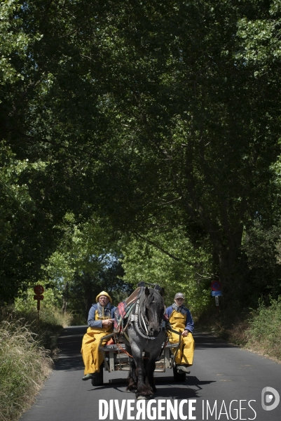
{"label": "sunlit green bush on the verge right of the road", "polygon": [[247,347],[281,360],[281,297],[270,307],[261,303],[249,325]]}

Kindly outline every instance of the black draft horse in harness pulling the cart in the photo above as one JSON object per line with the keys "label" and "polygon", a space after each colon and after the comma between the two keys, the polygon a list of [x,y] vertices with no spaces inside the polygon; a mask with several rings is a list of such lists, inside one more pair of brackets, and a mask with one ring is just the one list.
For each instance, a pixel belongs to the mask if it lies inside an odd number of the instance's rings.
{"label": "black draft horse in harness pulling the cart", "polygon": [[142,287],[126,329],[128,340],[124,338],[126,351],[130,354],[128,390],[135,391],[137,399],[146,399],[156,392],[153,372],[165,342],[164,311],[162,290]]}

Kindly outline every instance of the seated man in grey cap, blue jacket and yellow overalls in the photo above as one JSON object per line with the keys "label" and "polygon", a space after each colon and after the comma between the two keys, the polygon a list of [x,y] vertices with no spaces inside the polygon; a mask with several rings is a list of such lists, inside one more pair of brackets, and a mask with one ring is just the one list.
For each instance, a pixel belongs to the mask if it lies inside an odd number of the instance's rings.
{"label": "seated man in grey cap, blue jacket and yellow overalls", "polygon": [[[178,373],[190,373],[188,367],[193,364],[194,340],[193,319],[189,309],[184,307],[184,294],[174,295],[174,303],[167,307],[165,314],[169,318],[172,329],[181,333],[181,348],[178,350],[175,363]],[[171,333],[170,342],[175,344],[179,342],[179,335]]]}

